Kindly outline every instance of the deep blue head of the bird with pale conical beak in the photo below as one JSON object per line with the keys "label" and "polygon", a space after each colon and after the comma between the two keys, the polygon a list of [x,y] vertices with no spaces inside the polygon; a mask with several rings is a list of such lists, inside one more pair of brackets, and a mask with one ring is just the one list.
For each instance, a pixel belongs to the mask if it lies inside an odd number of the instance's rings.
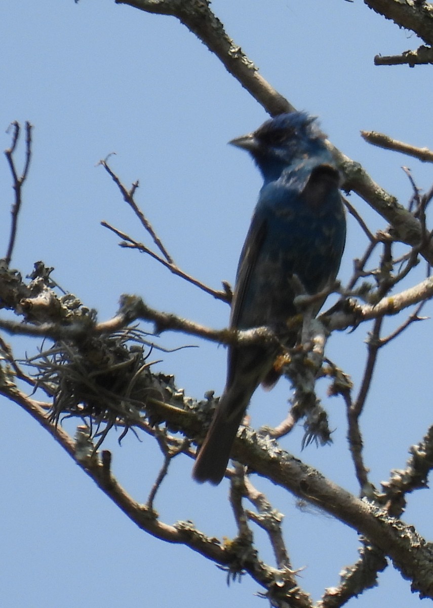
{"label": "deep blue head of the bird with pale conical beak", "polygon": [[328,156],[325,137],[316,117],[307,112],[290,112],[266,120],[254,133],[236,137],[229,143],[248,150],[265,181],[272,181],[294,162],[313,155]]}

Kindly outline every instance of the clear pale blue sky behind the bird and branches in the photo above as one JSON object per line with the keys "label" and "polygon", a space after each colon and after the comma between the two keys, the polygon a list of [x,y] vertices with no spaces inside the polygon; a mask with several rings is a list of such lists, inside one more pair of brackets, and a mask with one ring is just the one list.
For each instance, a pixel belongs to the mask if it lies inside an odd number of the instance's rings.
{"label": "clear pale blue sky behind the bird and branches", "polygon": [[[373,148],[360,130],[383,131],[433,148],[432,67],[375,67],[376,54],[419,45],[417,38],[356,0],[214,0],[212,7],[263,77],[299,109],[320,116],[331,141],[359,161],[384,188],[406,203],[410,186],[401,165],[412,168],[424,189],[431,165]],[[109,0],[3,0],[0,7],[0,143],[9,147],[10,122],[30,120],[33,161],[24,189],[12,266],[23,274],[35,261],[54,266],[54,278],[99,318],[116,312],[122,293],[206,325],[226,325],[228,307],[215,302],[150,258],[117,247],[100,226],[105,219],[137,240],[145,237],[99,159],[115,151],[111,165],[130,184],[140,180],[137,201],[176,262],[218,288],[233,282],[238,255],[260,188],[246,154],[226,145],[253,130],[266,114],[227,74],[217,58],[174,18],[148,15]],[[9,235],[12,188],[0,158],[0,236]],[[373,230],[386,224],[356,196],[353,204]],[[341,269],[345,280],[364,240],[349,222]],[[0,249],[0,255],[3,254]],[[418,278],[422,275],[421,269]],[[409,282],[410,285],[410,282]],[[425,314],[431,314],[426,307]],[[389,327],[395,326],[394,321]],[[328,355],[359,382],[365,332],[339,334]],[[376,484],[401,468],[407,447],[431,423],[431,323],[412,326],[378,365],[362,430],[365,458]],[[217,394],[225,375],[224,348],[181,335],[161,344],[199,344],[163,354],[159,368],[175,373],[185,392]],[[18,340],[18,348],[35,344]],[[156,358],[160,358],[159,354]],[[308,447],[302,458],[336,483],[356,491],[347,457],[344,407],[325,398],[334,444]],[[275,424],[286,410],[288,385],[254,396],[254,425]],[[183,547],[140,532],[61,451],[43,429],[4,399],[0,429],[0,589],[8,608],[167,606],[235,608],[264,606],[244,577],[226,586],[215,565]],[[70,426],[71,430],[72,427]],[[73,430],[73,429],[72,429]],[[283,440],[300,454],[302,430]],[[113,449],[113,470],[138,500],[147,498],[161,458],[151,441],[132,434]],[[179,460],[179,459],[178,459]],[[233,536],[227,486],[190,482],[191,463],[179,460],[161,489],[156,508],[168,523],[192,519],[215,536]],[[257,481],[275,508],[286,513],[285,531],[300,584],[318,598],[324,586],[356,561],[356,534],[318,512],[296,508],[293,497]],[[428,539],[433,536],[433,494],[410,497],[404,516]],[[269,548],[260,531],[263,559]],[[332,547],[330,553],[329,547]],[[409,584],[392,567],[381,587],[352,601],[359,607],[418,606]]]}

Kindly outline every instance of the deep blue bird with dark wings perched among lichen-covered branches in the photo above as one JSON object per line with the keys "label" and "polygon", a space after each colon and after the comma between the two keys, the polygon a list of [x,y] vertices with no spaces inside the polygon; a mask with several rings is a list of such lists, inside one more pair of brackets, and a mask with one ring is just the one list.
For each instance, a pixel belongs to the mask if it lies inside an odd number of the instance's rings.
{"label": "deep blue bird with dark wings perched among lichen-covered branches", "polygon": [[[298,337],[288,321],[298,314],[296,281],[317,294],[340,266],[346,232],[340,176],[325,134],[305,112],[280,114],[230,143],[249,151],[264,180],[239,260],[230,328],[268,325],[293,346]],[[279,378],[278,353],[266,345],[229,347],[226,388],[195,461],[196,481],[217,485],[224,477],[252,393]]]}

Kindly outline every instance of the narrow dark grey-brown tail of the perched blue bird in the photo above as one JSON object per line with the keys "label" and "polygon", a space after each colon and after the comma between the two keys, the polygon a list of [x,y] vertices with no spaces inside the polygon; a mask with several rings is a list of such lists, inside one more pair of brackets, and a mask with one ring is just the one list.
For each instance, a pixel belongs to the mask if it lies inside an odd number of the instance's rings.
{"label": "narrow dark grey-brown tail of the perched blue bird", "polygon": [[196,482],[218,485],[226,472],[238,427],[248,406],[250,394],[242,396],[227,390],[221,396],[206,439],[196,458],[192,476]]}

